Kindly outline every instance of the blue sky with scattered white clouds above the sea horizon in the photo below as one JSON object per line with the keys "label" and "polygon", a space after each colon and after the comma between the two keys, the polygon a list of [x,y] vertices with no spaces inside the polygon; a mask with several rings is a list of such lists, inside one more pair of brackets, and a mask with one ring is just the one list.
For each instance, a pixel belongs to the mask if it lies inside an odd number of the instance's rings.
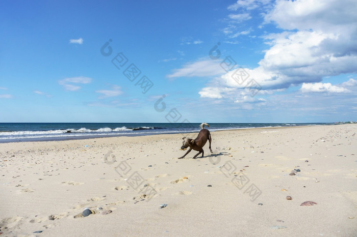
{"label": "blue sky with scattered white clouds above the sea horizon", "polygon": [[356,121],[355,12],[352,0],[1,1],[0,122]]}

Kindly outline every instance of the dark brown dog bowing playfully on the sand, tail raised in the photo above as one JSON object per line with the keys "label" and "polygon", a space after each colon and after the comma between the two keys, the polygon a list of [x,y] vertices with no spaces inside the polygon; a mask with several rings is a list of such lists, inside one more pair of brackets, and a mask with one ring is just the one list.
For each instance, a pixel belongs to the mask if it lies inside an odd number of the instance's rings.
{"label": "dark brown dog bowing playfully on the sand, tail raised", "polygon": [[186,152],[186,154],[182,157],[180,157],[179,159],[184,158],[187,154],[189,154],[192,150],[198,151],[198,153],[193,157],[193,159],[196,159],[196,157],[202,153],[202,157],[203,157],[203,149],[202,147],[206,144],[207,140],[209,140],[210,142],[210,151],[212,152],[211,149],[211,133],[210,131],[208,131],[207,129],[205,129],[205,125],[207,127],[210,127],[210,125],[206,124],[206,123],[202,123],[199,127],[201,128],[201,131],[199,131],[198,136],[196,139],[190,139],[187,137],[183,137],[182,139],[184,140],[181,146],[181,150],[186,150],[187,147],[190,147],[190,149]]}

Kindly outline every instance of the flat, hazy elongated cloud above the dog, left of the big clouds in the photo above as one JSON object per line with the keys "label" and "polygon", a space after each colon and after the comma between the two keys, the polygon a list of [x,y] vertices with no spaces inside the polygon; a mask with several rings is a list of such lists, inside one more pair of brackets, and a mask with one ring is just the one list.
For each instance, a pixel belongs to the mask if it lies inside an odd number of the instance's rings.
{"label": "flat, hazy elongated cloud above the dog, left of the big clouds", "polygon": [[219,65],[220,63],[221,62],[213,60],[202,60],[189,63],[184,65],[183,68],[175,69],[174,72],[167,75],[167,77],[202,77],[219,75],[224,72]]}

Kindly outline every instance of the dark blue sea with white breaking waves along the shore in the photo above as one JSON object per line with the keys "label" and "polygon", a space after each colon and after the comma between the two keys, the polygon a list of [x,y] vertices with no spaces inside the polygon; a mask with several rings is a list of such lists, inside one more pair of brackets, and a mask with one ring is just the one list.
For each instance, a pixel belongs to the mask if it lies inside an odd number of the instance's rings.
{"label": "dark blue sea with white breaking waves along the shore", "polygon": [[[210,124],[210,131],[309,124]],[[0,123],[0,143],[198,132],[199,123]]]}

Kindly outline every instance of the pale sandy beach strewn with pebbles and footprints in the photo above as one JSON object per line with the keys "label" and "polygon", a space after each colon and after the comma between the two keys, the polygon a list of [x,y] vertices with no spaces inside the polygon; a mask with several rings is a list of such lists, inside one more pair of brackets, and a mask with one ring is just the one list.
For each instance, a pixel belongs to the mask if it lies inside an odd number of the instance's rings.
{"label": "pale sandy beach strewn with pebbles and footprints", "polygon": [[182,136],[196,134],[0,144],[0,233],[355,236],[356,133],[212,132],[213,154],[206,144],[180,160]]}

